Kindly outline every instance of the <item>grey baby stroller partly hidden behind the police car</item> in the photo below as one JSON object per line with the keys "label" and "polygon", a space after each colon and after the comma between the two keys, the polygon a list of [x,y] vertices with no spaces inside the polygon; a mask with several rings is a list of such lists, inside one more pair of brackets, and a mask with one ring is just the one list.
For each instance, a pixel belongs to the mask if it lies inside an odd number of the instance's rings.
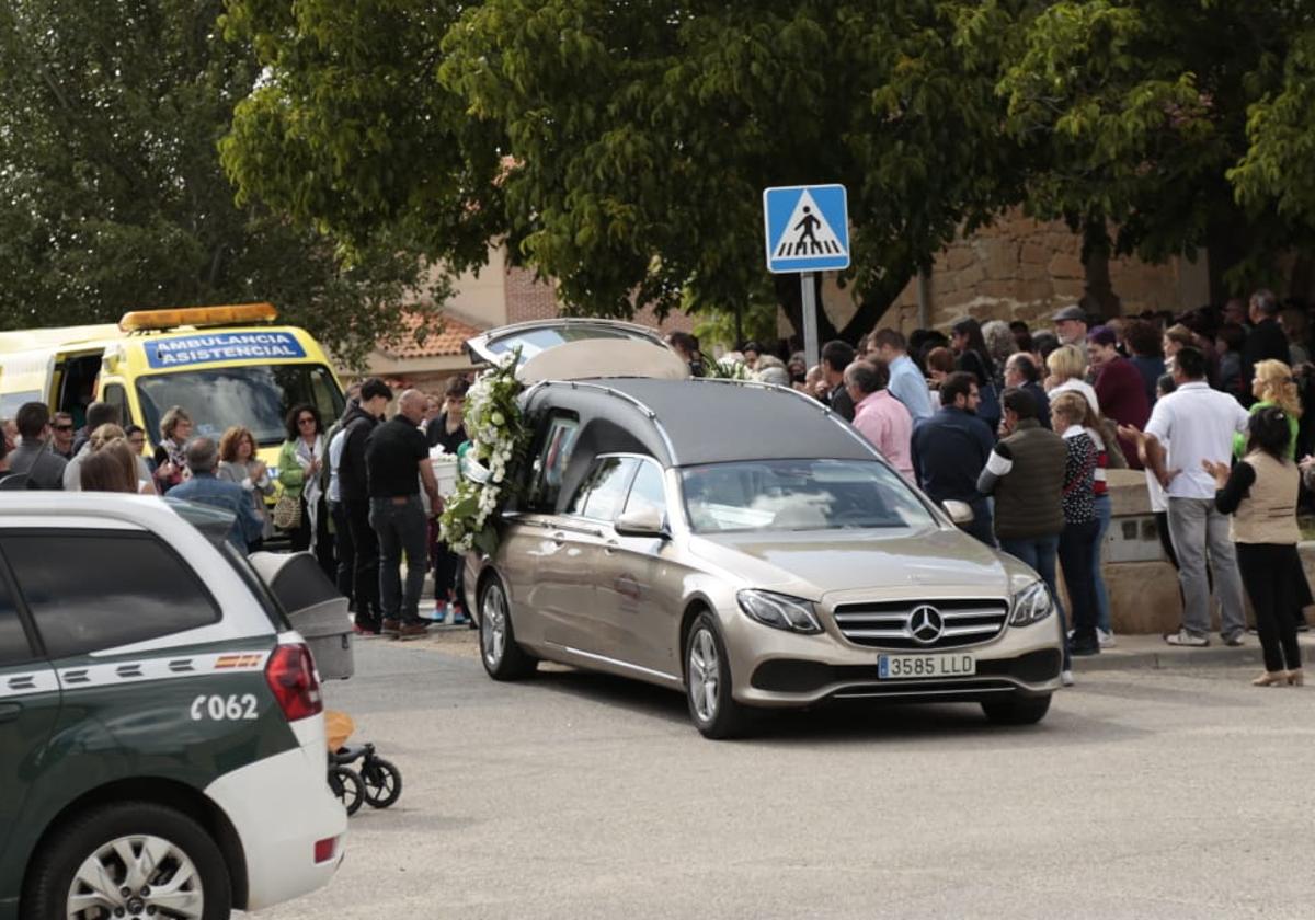
{"label": "grey baby stroller partly hidden behind the police car", "polygon": [[[345,681],[355,672],[351,614],[310,553],[255,552],[252,568],[279,598],[288,620],[306,640],[321,681]],[[348,815],[363,803],[387,808],[402,794],[402,774],[372,744],[347,744],[355,724],[346,712],[325,712],[329,744],[329,789],[342,799]]]}

